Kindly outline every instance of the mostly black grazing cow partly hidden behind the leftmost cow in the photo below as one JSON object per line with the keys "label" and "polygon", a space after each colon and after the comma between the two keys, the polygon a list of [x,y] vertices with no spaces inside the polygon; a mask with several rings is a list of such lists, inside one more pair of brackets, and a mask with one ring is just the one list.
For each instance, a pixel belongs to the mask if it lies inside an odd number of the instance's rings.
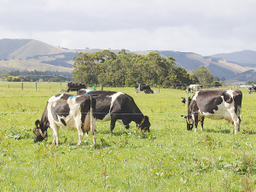
{"label": "mostly black grazing cow partly hidden behind the leftmost cow", "polygon": [[131,121],[134,121],[143,131],[149,131],[148,116],[144,116],[137,108],[131,96],[122,92],[105,90],[79,90],[78,92],[78,95],[86,94],[96,98],[96,119],[101,121],[111,120],[110,134],[113,133],[116,121],[124,125],[128,131]]}

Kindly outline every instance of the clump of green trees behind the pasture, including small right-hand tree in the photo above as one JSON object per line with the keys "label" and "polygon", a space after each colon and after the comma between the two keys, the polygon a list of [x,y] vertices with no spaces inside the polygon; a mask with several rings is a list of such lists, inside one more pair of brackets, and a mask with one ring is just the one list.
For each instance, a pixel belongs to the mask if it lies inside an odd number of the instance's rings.
{"label": "clump of green trees behind the pasture, including small right-hand tree", "polygon": [[183,67],[176,65],[172,56],[165,58],[155,52],[137,55],[121,49],[116,55],[105,49],[95,54],[80,52],[73,60],[73,79],[87,85],[155,84],[184,87],[199,82],[214,82],[212,73],[206,67],[199,67],[190,75]]}

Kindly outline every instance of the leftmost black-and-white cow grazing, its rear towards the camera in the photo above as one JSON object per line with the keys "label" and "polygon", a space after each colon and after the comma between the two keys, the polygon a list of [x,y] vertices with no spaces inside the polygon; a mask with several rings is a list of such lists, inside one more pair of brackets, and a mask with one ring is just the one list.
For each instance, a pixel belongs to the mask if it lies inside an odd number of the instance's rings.
{"label": "leftmost black-and-white cow grazing, its rear towards the camera", "polygon": [[96,148],[96,99],[90,95],[73,96],[60,94],[51,96],[44,108],[41,120],[36,120],[33,133],[34,142],[43,141],[47,137],[47,129],[53,131],[52,144],[59,145],[60,128],[79,132],[78,145],[82,143],[84,132],[92,132],[94,148]]}

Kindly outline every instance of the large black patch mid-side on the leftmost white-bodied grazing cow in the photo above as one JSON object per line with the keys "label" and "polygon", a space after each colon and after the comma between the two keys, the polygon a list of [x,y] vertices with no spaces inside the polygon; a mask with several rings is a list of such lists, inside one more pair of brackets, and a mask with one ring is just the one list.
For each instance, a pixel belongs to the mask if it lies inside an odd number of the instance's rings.
{"label": "large black patch mid-side on the leftmost white-bodied grazing cow", "polygon": [[[64,96],[69,96],[69,95],[64,95]],[[61,96],[61,98],[62,97],[63,96]],[[67,104],[67,100],[63,100],[63,99],[58,100],[55,104],[55,107],[51,107],[51,111],[55,121],[58,121],[58,116],[67,117],[70,111],[70,108]]]}

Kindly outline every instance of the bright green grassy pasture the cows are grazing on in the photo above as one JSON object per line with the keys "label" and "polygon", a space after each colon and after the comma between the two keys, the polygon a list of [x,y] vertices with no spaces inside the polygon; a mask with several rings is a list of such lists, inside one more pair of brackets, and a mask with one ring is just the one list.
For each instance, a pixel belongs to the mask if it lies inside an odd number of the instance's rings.
{"label": "bright green grassy pasture the cows are grazing on", "polygon": [[[41,119],[60,84],[0,83],[0,191],[254,191],[256,189],[256,94],[241,90],[240,132],[225,120],[205,119],[205,130],[187,131],[181,114],[184,90],[134,93],[134,88],[105,88],[132,96],[148,115],[149,133],[131,132],[96,122],[77,146],[78,132],[60,130],[60,145],[33,143],[34,122]],[[50,89],[49,89],[50,85]],[[24,84],[25,86],[25,84]],[[39,89],[42,86],[42,89]],[[65,85],[66,86],[66,85]],[[65,87],[64,86],[64,87]],[[44,89],[43,89],[44,88]],[[154,89],[156,90],[156,89]],[[76,94],[76,92],[73,92]]]}

